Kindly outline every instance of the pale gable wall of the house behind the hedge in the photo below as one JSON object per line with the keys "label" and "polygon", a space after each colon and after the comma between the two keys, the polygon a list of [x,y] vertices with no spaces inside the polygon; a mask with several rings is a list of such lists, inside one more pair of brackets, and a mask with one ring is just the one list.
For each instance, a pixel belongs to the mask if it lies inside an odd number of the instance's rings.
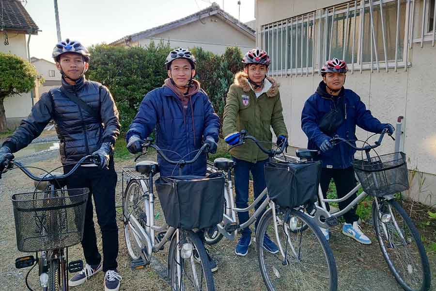
{"label": "pale gable wall of the house behind the hedge", "polygon": [[155,34],[151,38],[140,39],[141,46],[148,45],[151,40],[154,42],[167,42],[170,39],[170,46],[193,48],[202,47],[204,50],[211,51],[215,54],[222,54],[228,46],[238,46],[241,50],[249,50],[255,47],[254,39],[243,34],[222,18],[210,16],[202,18],[202,22],[194,21],[182,25],[169,31]]}

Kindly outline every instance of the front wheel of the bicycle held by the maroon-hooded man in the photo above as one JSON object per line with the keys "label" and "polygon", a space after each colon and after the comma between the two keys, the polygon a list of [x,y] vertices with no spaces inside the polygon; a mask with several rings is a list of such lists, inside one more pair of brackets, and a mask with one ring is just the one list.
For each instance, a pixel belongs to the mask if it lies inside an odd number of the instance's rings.
{"label": "front wheel of the bicycle held by the maroon-hooded man", "polygon": [[[215,291],[209,260],[200,238],[192,231],[178,229],[177,232],[168,253],[171,291]],[[184,244],[192,251],[182,254]]]}

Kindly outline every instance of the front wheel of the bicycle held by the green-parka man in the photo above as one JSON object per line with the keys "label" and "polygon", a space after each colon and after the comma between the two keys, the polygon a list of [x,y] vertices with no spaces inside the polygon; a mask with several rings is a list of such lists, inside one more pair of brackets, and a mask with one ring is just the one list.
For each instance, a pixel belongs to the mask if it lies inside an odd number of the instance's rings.
{"label": "front wheel of the bicycle held by the green-parka man", "polygon": [[[336,291],[336,263],[318,226],[301,211],[290,215],[272,209],[262,217],[256,234],[259,266],[268,291]],[[277,232],[274,220],[276,221]],[[271,240],[282,247],[274,253],[264,247]],[[270,243],[268,243],[270,244]]]}

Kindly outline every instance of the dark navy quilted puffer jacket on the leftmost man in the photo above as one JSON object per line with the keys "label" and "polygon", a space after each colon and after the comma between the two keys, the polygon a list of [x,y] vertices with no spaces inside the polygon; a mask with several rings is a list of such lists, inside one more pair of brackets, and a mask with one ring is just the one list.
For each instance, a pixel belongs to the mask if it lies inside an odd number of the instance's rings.
{"label": "dark navy quilted puffer jacket on the leftmost man", "polygon": [[[118,110],[108,88],[98,82],[82,77],[76,85],[69,85],[62,79],[62,87],[76,94],[94,111],[100,113],[96,119],[65,96],[60,88],[51,89],[33,106],[28,117],[3,146],[16,152],[28,146],[38,137],[48,122],[53,119],[60,142],[61,162],[78,162],[82,157],[98,150],[102,143],[115,144],[120,134]],[[83,120],[82,120],[83,117]]]}

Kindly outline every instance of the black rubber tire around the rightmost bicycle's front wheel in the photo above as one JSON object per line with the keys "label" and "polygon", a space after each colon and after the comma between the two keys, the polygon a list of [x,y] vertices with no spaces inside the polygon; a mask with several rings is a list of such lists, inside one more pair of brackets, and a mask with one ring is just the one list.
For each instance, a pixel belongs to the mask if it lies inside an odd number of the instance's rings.
{"label": "black rubber tire around the rightmost bicycle's front wheel", "polygon": [[[415,224],[412,222],[410,217],[407,215],[405,210],[400,206],[400,204],[397,201],[384,200],[384,201],[380,201],[379,205],[381,204],[383,207],[383,203],[389,203],[390,207],[393,207],[397,211],[397,213],[400,215],[401,219],[403,219],[403,222],[405,223],[405,225],[409,229],[410,235],[413,237],[413,240],[416,242],[416,246],[418,248],[418,254],[420,256],[420,265],[422,267],[422,283],[420,284],[420,287],[418,287],[419,289],[412,289],[405,282],[405,279],[400,274],[401,272],[399,270],[397,270],[398,267],[395,268],[394,262],[391,259],[392,256],[389,256],[389,251],[388,251],[389,248],[387,249],[387,246],[385,245],[386,240],[383,237],[384,235],[382,235],[380,232],[381,224],[380,224],[380,219],[378,219],[379,215],[378,215],[378,213],[376,213],[376,211],[378,212],[378,210],[377,210],[377,206],[376,206],[375,200],[374,200],[374,202],[373,202],[373,224],[374,224],[374,229],[375,229],[375,235],[377,237],[377,241],[378,241],[378,244],[379,244],[380,249],[382,251],[383,257],[385,258],[386,262],[388,263],[389,270],[391,271],[392,275],[395,277],[395,280],[398,282],[398,284],[400,284],[400,286],[405,291],[428,291],[428,290],[430,290],[430,285],[431,285],[430,265],[429,265],[427,253],[425,252],[425,248],[424,248],[424,245],[422,244],[418,229],[416,228]],[[392,212],[392,214],[393,214],[393,212]],[[381,223],[383,223],[383,222],[381,222]],[[398,222],[397,222],[397,225],[398,225]],[[404,234],[405,233],[403,233],[402,235],[404,236]],[[406,242],[407,245],[410,245],[413,242],[411,240],[410,240],[410,242],[408,240],[406,240],[406,241],[407,241]],[[394,249],[394,248],[391,247],[390,249]],[[403,262],[403,263],[405,263],[405,262]],[[408,273],[410,273],[413,271],[413,266],[411,266],[409,263],[409,264],[407,264],[407,269],[408,269]],[[416,276],[413,276],[413,277],[416,277]]]}

